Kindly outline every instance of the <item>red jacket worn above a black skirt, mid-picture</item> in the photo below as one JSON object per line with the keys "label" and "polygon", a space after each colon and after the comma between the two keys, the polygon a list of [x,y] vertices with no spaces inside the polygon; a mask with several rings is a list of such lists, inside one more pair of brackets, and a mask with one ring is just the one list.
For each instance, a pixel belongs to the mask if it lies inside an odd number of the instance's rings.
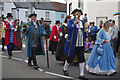
{"label": "red jacket worn above a black skirt, mid-picture", "polygon": [[[54,26],[52,27],[52,31],[51,31],[51,35],[50,35],[50,40],[58,42],[58,39],[59,39],[59,37],[58,37],[59,31],[61,31],[61,29],[59,28],[59,30],[58,30],[58,29],[57,29],[57,26],[54,25]],[[56,36],[56,39],[54,38],[54,36]]]}

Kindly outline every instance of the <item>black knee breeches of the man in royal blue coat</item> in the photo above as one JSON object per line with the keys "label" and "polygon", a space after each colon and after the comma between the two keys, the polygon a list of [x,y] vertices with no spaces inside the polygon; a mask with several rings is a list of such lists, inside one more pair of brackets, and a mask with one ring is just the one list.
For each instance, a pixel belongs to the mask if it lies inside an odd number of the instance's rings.
{"label": "black knee breeches of the man in royal blue coat", "polygon": [[[78,63],[83,63],[85,62],[85,57],[84,57],[84,47],[76,47],[74,56],[77,55],[78,58]],[[74,58],[67,57],[67,62],[71,63]]]}

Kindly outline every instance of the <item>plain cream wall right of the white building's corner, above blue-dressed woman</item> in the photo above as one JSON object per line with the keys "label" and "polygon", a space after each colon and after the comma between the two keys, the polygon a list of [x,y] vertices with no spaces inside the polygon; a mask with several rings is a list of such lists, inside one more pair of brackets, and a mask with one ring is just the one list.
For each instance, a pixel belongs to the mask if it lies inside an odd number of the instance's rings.
{"label": "plain cream wall right of the white building's corner, above blue-dressed woman", "polygon": [[114,19],[118,26],[118,16],[113,16],[115,12],[118,12],[118,2],[87,2],[86,10],[88,14],[88,20],[96,22],[96,25],[99,24],[97,18]]}

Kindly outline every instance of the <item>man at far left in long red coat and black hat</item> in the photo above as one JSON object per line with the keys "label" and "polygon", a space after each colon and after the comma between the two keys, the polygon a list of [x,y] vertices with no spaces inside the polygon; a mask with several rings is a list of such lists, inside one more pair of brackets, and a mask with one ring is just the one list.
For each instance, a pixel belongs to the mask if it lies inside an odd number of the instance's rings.
{"label": "man at far left in long red coat and black hat", "polygon": [[16,25],[12,20],[13,16],[11,13],[7,14],[7,20],[5,21],[5,45],[7,46],[7,51],[9,55],[9,59],[11,59],[12,51],[14,47],[17,45],[16,41]]}

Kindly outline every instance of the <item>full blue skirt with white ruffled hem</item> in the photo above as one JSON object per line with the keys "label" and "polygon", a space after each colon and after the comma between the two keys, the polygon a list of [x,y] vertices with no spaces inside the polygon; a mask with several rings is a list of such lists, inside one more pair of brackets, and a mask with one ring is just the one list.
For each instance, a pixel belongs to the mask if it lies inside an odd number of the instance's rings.
{"label": "full blue skirt with white ruffled hem", "polygon": [[86,70],[100,75],[111,75],[115,72],[115,58],[110,44],[103,43],[103,54],[99,55],[95,44],[87,60]]}

